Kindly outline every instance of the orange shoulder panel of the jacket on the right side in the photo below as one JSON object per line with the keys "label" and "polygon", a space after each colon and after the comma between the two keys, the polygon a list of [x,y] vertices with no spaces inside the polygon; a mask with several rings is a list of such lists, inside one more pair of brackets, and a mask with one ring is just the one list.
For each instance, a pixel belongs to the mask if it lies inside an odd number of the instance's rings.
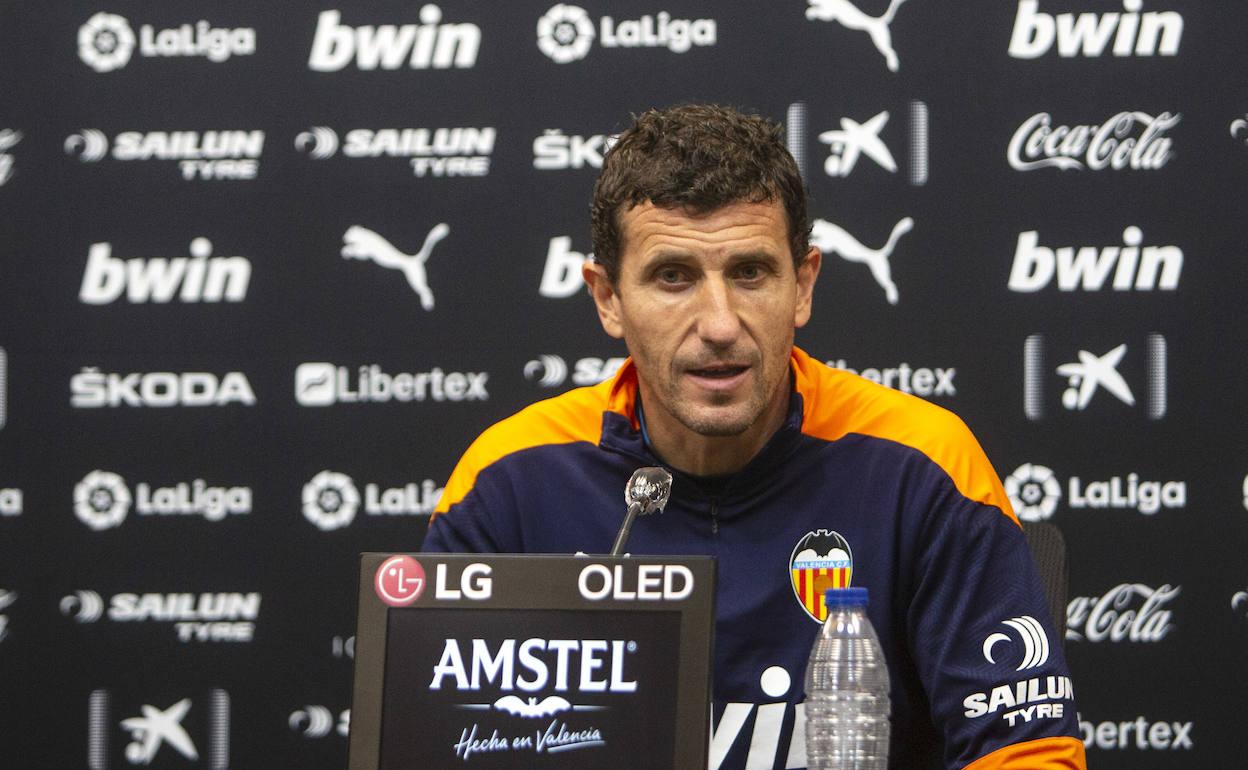
{"label": "orange shoulder panel of the jacket on the right side", "polygon": [[826,367],[797,348],[792,368],[804,402],[804,433],[825,441],[861,433],[912,447],[940,465],[963,497],[993,505],[1018,523],[996,470],[956,414]]}

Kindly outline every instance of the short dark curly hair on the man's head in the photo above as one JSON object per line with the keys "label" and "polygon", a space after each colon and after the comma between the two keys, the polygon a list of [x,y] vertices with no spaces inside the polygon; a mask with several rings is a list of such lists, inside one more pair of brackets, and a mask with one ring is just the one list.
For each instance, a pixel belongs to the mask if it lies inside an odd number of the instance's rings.
{"label": "short dark curly hair on the man's head", "polygon": [[619,215],[650,201],[698,213],[734,202],[780,201],[794,267],[810,243],[806,188],[776,122],[719,105],[680,105],[634,116],[603,158],[590,206],[594,262],[619,280]]}

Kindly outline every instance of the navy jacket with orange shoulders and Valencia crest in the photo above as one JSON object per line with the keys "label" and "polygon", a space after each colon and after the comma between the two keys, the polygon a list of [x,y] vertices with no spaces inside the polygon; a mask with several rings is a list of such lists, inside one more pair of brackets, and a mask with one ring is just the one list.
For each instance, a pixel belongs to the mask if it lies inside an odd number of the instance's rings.
{"label": "navy jacket with orange shoulders and Valencia crest", "polygon": [[[634,554],[719,563],[711,769],[805,766],[802,678],[822,588],[870,589],[889,663],[891,766],[1085,769],[1073,690],[1027,543],[952,413],[797,348],[787,418],[739,473],[673,470]],[[623,489],[661,464],[636,372],[535,403],[461,459],[426,550],[607,553]]]}

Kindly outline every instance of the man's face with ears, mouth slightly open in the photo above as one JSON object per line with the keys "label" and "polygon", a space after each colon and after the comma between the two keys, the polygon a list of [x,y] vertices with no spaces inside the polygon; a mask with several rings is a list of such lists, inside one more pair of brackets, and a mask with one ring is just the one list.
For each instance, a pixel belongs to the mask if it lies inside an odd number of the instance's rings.
{"label": "man's face with ears, mouth slightly open", "polygon": [[780,202],[705,213],[646,202],[620,216],[620,233],[618,282],[597,265],[585,278],[603,328],[633,356],[648,419],[705,437],[778,427],[820,262],[812,248],[794,270]]}

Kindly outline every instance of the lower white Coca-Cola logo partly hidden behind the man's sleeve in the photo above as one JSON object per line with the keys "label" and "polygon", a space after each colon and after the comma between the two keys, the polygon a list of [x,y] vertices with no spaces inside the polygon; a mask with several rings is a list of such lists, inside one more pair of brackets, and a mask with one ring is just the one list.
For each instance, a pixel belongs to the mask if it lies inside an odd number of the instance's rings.
{"label": "lower white Coca-Cola logo partly hidden behind the man's sleeve", "polygon": [[1123,583],[1101,597],[1076,597],[1066,605],[1066,638],[1071,641],[1161,641],[1173,630],[1164,605],[1182,587]]}

